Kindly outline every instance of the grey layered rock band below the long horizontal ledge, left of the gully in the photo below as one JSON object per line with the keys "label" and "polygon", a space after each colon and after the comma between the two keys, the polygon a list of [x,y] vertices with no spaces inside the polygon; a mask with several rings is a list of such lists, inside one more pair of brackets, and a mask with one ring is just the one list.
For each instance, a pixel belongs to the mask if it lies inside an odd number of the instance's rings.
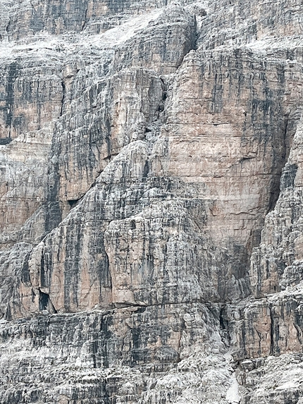
{"label": "grey layered rock band below the long horizontal ledge, left of the gully", "polygon": [[[198,303],[1,324],[7,352],[1,377],[11,386],[2,399],[20,403],[27,396],[29,402],[65,403],[78,397],[83,403],[110,403],[124,396],[123,402],[157,403],[192,394],[211,398],[218,381],[224,384],[223,396],[230,372],[217,331],[218,313]],[[194,387],[188,385],[190,378]]]}

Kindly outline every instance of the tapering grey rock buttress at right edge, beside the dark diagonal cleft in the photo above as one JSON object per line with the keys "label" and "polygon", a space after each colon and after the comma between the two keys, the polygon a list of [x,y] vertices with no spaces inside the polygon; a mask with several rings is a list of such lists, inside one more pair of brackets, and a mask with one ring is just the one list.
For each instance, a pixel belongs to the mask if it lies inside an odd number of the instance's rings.
{"label": "tapering grey rock buttress at right edge, beside the dark diagonal cleft", "polygon": [[257,297],[295,286],[302,278],[302,120],[283,169],[276,209],[268,214],[260,246],[252,256]]}

